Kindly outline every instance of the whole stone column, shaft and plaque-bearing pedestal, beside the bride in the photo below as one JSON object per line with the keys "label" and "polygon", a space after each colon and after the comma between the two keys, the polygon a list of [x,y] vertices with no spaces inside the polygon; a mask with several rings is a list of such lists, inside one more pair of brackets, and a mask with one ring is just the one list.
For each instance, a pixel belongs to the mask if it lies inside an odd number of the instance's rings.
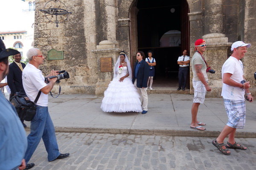
{"label": "whole stone column, shaft and plaque-bearing pedestal, beside the bride", "polygon": [[[96,54],[98,67],[98,82],[96,83],[95,94],[102,96],[108,88],[108,84],[113,78],[114,64],[119,56],[119,43],[116,41],[116,24],[117,24],[117,4],[116,0],[100,0],[100,24],[101,32],[99,32],[101,42],[96,46],[96,50],[92,50]],[[101,71],[101,58],[112,59],[112,71]]]}

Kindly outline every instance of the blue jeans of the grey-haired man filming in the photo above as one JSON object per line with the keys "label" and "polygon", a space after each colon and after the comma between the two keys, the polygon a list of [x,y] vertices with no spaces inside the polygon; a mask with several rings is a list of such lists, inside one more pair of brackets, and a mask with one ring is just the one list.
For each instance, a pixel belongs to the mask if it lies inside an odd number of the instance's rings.
{"label": "blue jeans of the grey-haired man filming", "polygon": [[27,137],[28,148],[24,159],[28,164],[31,156],[35,152],[41,138],[48,153],[48,161],[55,160],[59,155],[57,139],[55,136],[55,128],[49,115],[48,107],[38,106],[34,118],[31,121],[30,133]]}

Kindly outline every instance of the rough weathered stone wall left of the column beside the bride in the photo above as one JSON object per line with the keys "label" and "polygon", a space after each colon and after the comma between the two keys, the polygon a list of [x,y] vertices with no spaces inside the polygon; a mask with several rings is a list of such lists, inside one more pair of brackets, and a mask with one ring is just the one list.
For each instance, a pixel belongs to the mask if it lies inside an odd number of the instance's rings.
{"label": "rough weathered stone wall left of the column beside the bride", "polygon": [[[49,22],[38,11],[47,2],[48,0],[41,0],[36,3],[35,47],[40,48],[44,56],[52,48],[64,51],[64,60],[46,59],[40,69],[44,74],[51,69],[68,71],[70,79],[61,80],[62,93],[94,94],[98,68],[96,57],[90,50],[96,47],[96,4],[91,0],[61,0],[72,14],[67,21],[56,27],[55,23]],[[58,92],[57,86],[53,92]]]}

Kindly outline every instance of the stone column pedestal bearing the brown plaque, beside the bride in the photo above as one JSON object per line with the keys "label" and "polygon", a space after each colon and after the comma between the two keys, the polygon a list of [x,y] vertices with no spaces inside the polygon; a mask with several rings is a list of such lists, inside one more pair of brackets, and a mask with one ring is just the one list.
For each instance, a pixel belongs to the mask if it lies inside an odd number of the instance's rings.
{"label": "stone column pedestal bearing the brown plaque, beside the bride", "polygon": [[[117,58],[119,56],[119,52],[121,49],[119,49],[119,44],[117,41],[109,41],[105,40],[102,42],[99,42],[99,45],[97,45],[96,50],[92,50],[93,53],[97,56],[97,67],[98,67],[98,82],[96,83],[95,88],[95,95],[96,96],[103,96],[104,91],[108,88],[108,84],[113,78],[113,71],[114,71],[114,65],[117,61]],[[110,72],[101,72],[101,58],[112,58],[112,71]]]}

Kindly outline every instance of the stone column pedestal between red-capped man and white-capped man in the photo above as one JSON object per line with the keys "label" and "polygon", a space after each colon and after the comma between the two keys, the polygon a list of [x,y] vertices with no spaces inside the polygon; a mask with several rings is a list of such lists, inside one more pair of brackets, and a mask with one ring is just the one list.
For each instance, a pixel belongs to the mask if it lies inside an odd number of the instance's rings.
{"label": "stone column pedestal between red-capped man and white-capped man", "polygon": [[209,79],[208,84],[212,88],[212,91],[207,92],[206,96],[221,97],[221,68],[224,62],[227,60],[227,50],[232,43],[228,42],[228,38],[225,37],[225,34],[219,33],[206,34],[203,36],[203,39],[207,43],[204,58],[207,65],[211,67],[211,69],[215,70],[215,74],[207,73]]}

